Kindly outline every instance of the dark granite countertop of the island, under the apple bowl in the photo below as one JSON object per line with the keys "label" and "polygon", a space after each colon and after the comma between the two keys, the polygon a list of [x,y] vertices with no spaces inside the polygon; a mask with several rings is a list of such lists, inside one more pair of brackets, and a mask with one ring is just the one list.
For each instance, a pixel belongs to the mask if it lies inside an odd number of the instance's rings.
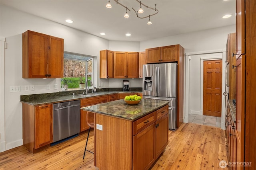
{"label": "dark granite countertop of the island, under the apple bowl", "polygon": [[142,99],[137,105],[128,105],[123,99],[120,99],[112,102],[82,107],[81,109],[134,121],[167,105],[168,103],[168,101],[164,100]]}

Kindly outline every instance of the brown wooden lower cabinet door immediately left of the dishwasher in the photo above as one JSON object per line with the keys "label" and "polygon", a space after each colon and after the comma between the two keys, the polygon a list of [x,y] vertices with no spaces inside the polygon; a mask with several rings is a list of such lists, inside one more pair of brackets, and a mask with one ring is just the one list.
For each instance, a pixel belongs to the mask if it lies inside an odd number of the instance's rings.
{"label": "brown wooden lower cabinet door immediately left of the dishwasher", "polygon": [[52,143],[52,104],[35,107],[35,149]]}

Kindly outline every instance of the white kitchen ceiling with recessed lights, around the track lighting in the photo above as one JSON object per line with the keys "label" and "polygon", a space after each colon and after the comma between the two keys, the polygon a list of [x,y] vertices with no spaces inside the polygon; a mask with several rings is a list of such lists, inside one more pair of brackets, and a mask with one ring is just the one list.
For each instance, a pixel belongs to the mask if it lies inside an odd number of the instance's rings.
{"label": "white kitchen ceiling with recessed lights, around the track lighting", "polygon": [[[118,0],[128,6],[130,18],[124,18],[126,9],[110,0],[112,8],[106,8],[108,0],[0,0],[1,5],[16,8],[48,20],[68,25],[75,29],[115,41],[146,41],[159,37],[167,37],[223,27],[236,24],[235,0],[141,0],[147,6],[159,10],[151,16],[152,25],[147,25],[148,18],[136,17],[140,4],[136,0]],[[142,16],[155,11],[145,10]],[[150,13],[149,13],[150,11]],[[232,14],[231,18],[222,16]],[[74,23],[66,23],[71,19]],[[106,35],[100,35],[101,32]],[[126,37],[126,33],[131,33]]]}

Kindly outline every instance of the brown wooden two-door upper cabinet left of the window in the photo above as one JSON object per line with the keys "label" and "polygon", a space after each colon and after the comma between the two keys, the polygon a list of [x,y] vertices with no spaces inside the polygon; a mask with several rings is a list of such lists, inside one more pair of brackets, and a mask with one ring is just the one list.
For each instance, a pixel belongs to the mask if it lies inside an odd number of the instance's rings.
{"label": "brown wooden two-door upper cabinet left of the window", "polygon": [[22,77],[63,77],[64,39],[26,31],[22,34]]}

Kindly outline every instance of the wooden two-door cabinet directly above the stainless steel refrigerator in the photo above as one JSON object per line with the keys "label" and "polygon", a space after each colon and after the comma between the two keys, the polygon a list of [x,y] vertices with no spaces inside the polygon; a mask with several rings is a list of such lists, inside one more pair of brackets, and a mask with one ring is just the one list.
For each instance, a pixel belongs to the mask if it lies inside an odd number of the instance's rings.
{"label": "wooden two-door cabinet directly above the stainless steel refrigerator", "polygon": [[174,62],[178,57],[178,45],[146,49],[147,63]]}

